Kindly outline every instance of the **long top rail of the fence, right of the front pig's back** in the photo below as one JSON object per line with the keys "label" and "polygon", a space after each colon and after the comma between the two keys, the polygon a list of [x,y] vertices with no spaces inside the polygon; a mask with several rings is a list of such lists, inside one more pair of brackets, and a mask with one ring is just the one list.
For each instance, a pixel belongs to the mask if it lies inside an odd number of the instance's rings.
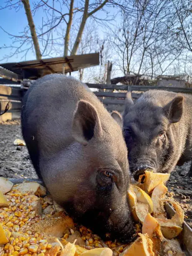
{"label": "long top rail of the fence, right of the front pig's back", "polygon": [[90,88],[110,89],[110,90],[128,90],[128,91],[147,91],[147,90],[166,90],[169,92],[182,92],[192,94],[192,88],[180,87],[157,87],[157,86],[142,86],[142,85],[117,85],[117,84],[90,84],[86,83]]}

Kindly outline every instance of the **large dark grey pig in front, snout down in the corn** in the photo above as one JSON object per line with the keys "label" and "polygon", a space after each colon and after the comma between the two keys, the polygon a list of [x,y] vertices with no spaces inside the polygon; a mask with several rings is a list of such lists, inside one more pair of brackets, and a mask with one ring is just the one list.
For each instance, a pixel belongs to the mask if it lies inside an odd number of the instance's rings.
{"label": "large dark grey pig in front, snout down in the corn", "polygon": [[[23,99],[23,138],[54,199],[100,235],[134,232],[121,117],[111,117],[87,85],[61,74],[33,83]],[[119,123],[119,124],[118,124]]]}

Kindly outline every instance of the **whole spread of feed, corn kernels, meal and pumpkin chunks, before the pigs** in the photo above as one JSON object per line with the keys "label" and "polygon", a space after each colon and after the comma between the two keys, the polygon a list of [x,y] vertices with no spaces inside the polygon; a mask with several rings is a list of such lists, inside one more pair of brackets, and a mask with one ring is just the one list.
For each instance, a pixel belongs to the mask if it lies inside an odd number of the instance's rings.
{"label": "whole spread of feed, corn kernels, meal and pumpkin chunks, before the pigs", "polygon": [[[13,186],[0,177],[0,256],[184,256],[174,239],[182,231],[184,212],[166,198],[169,174],[145,171],[141,178],[143,182],[128,190],[138,237],[127,245],[104,242],[89,228],[74,224],[40,184]],[[176,210],[171,219],[164,202]]]}

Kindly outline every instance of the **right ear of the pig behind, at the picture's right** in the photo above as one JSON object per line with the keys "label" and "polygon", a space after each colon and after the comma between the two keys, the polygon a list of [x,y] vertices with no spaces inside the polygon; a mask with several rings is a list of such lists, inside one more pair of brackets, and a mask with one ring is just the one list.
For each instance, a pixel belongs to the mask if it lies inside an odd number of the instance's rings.
{"label": "right ear of the pig behind, at the picture's right", "polygon": [[183,113],[183,96],[175,97],[164,107],[164,111],[171,123],[179,122]]}

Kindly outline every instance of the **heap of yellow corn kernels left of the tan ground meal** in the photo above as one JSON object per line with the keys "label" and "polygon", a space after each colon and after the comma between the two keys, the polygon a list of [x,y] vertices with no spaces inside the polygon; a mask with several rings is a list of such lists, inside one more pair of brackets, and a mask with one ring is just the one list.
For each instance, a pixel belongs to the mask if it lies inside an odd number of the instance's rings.
{"label": "heap of yellow corn kernels left of the tan ground meal", "polygon": [[[33,223],[41,220],[36,204],[33,206],[36,196],[31,192],[22,194],[13,189],[7,193],[6,198],[9,207],[0,208],[0,225],[5,231],[7,242],[0,235],[0,256],[47,255],[46,251],[51,248],[51,243],[48,243],[42,233],[32,233],[30,230]],[[26,231],[21,231],[24,228]]]}

